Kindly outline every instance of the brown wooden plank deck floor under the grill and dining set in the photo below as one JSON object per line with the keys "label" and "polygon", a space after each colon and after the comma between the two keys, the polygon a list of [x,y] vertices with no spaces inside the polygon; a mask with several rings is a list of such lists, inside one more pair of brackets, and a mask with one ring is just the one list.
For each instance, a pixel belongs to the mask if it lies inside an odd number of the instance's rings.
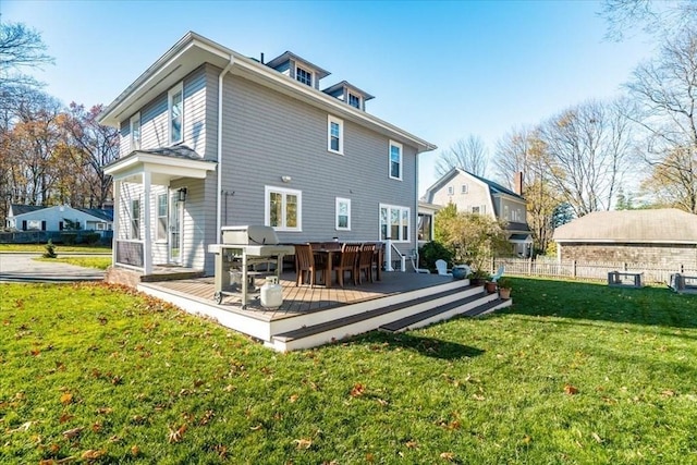
{"label": "brown wooden plank deck floor under the grill and dining set", "polygon": [[[283,273],[280,284],[283,286],[283,305],[274,310],[261,307],[259,299],[255,298],[246,309],[241,306],[239,294],[225,294],[220,305],[213,302],[215,284],[212,277],[184,279],[176,281],[148,282],[140,286],[169,292],[191,299],[199,301],[206,305],[218,307],[225,311],[232,311],[264,321],[274,321],[298,315],[309,314],[328,308],[358,302],[386,297],[406,291],[435,286],[452,281],[452,277],[438,274],[418,274],[403,272],[383,272],[382,280],[364,282],[362,285],[347,283],[344,287],[333,285],[327,289],[322,285],[295,285],[294,273]],[[258,296],[258,293],[254,295]]]}

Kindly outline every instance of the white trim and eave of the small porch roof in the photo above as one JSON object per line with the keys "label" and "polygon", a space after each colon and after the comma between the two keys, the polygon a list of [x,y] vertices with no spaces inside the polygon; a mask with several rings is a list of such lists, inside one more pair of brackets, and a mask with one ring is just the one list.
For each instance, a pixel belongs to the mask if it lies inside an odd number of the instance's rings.
{"label": "white trim and eave of the small porch roof", "polygon": [[205,179],[217,164],[215,161],[136,151],[106,167],[105,173],[113,176],[114,181],[140,182],[143,173],[149,172],[154,184],[169,185],[170,181],[180,178]]}

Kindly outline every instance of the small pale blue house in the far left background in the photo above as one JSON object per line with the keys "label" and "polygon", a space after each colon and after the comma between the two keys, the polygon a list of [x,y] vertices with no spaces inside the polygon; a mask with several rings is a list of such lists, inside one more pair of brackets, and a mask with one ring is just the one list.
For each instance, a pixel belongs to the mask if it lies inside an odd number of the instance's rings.
{"label": "small pale blue house in the far left background", "polygon": [[112,221],[111,210],[13,204],[10,205],[7,227],[19,231],[63,231],[73,224],[83,231],[110,231]]}

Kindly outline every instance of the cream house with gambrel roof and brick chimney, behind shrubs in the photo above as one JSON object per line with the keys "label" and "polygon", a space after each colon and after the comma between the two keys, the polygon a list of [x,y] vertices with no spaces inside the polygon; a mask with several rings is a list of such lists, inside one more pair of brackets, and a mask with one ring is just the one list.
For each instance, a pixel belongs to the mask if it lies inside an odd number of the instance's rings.
{"label": "cream house with gambrel roof and brick chimney, behind shrubs", "polygon": [[504,220],[508,238],[514,252],[528,257],[533,252],[533,236],[526,220],[521,173],[516,175],[515,185],[517,192],[460,168],[453,168],[426,189],[423,200],[442,207],[453,204],[457,211]]}

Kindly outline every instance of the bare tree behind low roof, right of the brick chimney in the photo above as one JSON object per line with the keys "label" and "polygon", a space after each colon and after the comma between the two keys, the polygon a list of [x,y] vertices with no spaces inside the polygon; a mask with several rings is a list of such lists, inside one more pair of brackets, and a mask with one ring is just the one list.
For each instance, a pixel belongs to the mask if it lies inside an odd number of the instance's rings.
{"label": "bare tree behind low roof, right of the brick chimney", "polygon": [[551,187],[582,217],[609,210],[632,156],[626,103],[588,101],[541,125]]}

